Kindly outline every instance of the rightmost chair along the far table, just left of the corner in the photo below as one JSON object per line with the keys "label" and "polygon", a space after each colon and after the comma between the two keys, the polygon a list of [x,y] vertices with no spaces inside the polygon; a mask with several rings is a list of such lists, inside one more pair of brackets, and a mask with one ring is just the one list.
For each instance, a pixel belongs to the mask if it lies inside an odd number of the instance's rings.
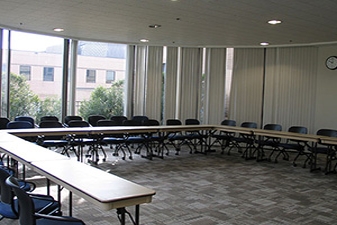
{"label": "rightmost chair along the far table, just left of the corner", "polygon": [[[186,119],[185,125],[200,125],[200,121],[197,119]],[[201,146],[201,153],[206,153],[206,151],[203,151],[203,146],[207,146],[206,139],[208,138],[207,134],[204,134],[200,130],[193,130],[193,131],[186,131],[185,132],[185,140],[190,143],[191,146],[193,146],[194,152],[198,153],[197,146]],[[192,153],[192,151],[190,152]]]}

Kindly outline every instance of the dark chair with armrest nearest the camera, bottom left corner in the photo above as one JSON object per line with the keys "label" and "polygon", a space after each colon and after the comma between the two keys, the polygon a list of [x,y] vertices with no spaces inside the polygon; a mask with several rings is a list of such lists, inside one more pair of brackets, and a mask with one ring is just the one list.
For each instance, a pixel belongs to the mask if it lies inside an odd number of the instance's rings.
{"label": "dark chair with armrest nearest the camera, bottom left corner", "polygon": [[[13,190],[17,196],[19,205],[19,221],[20,225],[51,225],[51,224],[73,224],[83,225],[82,220],[74,217],[62,217],[53,215],[44,215],[43,212],[34,210],[36,209],[36,202],[25,191],[20,189],[15,177],[10,176],[6,179],[6,185]],[[35,211],[35,213],[34,213]]]}

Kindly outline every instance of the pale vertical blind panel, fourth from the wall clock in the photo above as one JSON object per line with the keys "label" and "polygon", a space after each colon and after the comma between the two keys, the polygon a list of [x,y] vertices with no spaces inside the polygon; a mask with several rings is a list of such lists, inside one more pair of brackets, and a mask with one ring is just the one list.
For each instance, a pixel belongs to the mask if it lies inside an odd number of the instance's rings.
{"label": "pale vertical blind panel, fourth from the wall clock", "polygon": [[179,116],[185,119],[199,119],[201,99],[202,49],[182,48],[179,79]]}

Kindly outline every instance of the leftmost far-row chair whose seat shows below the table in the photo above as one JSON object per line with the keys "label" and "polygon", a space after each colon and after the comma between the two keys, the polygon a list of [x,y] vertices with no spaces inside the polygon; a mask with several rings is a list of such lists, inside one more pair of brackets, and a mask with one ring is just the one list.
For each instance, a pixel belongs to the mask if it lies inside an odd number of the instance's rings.
{"label": "leftmost far-row chair whose seat shows below the table", "polygon": [[[62,123],[55,120],[43,120],[39,124],[39,128],[64,128]],[[67,151],[68,140],[65,136],[39,136],[37,140],[38,145],[45,148],[63,148],[61,154],[66,154],[69,157]]]}

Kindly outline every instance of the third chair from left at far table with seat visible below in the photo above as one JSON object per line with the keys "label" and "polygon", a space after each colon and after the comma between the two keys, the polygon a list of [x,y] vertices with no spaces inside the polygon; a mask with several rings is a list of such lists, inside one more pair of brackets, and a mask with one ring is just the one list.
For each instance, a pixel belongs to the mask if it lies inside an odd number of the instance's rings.
{"label": "third chair from left at far table with seat visible below", "polygon": [[[119,126],[119,123],[115,120],[99,120],[97,121],[97,126],[102,127],[109,127],[109,126]],[[132,159],[132,152],[128,145],[126,145],[126,138],[124,134],[106,134],[103,135],[101,139],[102,144],[110,145],[110,148],[113,149],[115,147],[114,152],[112,153],[113,156],[118,156],[119,151],[122,151],[123,157],[122,159],[126,159],[126,153],[124,148],[126,148],[129,152],[129,159]]]}

